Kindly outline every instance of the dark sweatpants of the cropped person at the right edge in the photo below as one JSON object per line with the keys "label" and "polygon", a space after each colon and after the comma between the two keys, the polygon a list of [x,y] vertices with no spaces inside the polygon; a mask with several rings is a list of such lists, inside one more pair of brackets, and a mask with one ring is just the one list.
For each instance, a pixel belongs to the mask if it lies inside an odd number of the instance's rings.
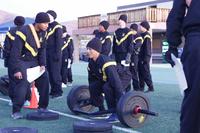
{"label": "dark sweatpants of the cropped person at the right edge", "polygon": [[200,32],[187,35],[181,61],[188,88],[182,102],[180,133],[200,133]]}

